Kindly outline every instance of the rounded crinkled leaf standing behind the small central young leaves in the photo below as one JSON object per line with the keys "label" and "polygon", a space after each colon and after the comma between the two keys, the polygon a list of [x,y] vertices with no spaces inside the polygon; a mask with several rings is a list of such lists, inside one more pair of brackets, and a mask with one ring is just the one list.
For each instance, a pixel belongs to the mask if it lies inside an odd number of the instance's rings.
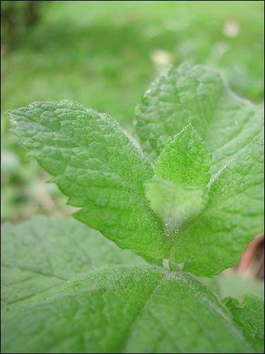
{"label": "rounded crinkled leaf standing behind the small central young leaves", "polygon": [[211,172],[260,134],[263,108],[235,96],[220,75],[201,65],[171,67],[136,108],[136,130],[154,159],[168,137],[192,123],[213,154]]}

